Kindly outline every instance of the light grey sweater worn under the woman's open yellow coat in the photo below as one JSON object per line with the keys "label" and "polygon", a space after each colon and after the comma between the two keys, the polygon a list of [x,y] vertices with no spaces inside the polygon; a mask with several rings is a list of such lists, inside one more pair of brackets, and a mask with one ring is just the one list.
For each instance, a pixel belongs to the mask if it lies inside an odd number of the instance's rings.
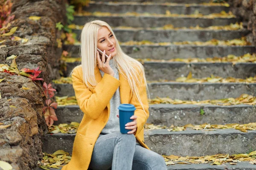
{"label": "light grey sweater worn under the woman's open yellow coat", "polygon": [[[113,59],[111,59],[109,61],[109,66],[113,69],[113,71],[115,73],[114,77],[119,80],[119,72],[118,72],[117,68],[114,67]],[[103,75],[105,73],[100,69],[99,69],[99,71],[103,77]],[[110,115],[109,115],[108,122],[107,122],[106,126],[102,129],[99,136],[120,131],[119,118],[116,116],[116,115],[119,115],[118,107],[120,104],[121,104],[121,99],[120,99],[120,93],[119,93],[119,87],[118,87],[116,92],[114,93],[114,95],[112,96],[112,98],[110,100]],[[136,139],[136,143],[139,143],[137,141],[137,139]]]}

